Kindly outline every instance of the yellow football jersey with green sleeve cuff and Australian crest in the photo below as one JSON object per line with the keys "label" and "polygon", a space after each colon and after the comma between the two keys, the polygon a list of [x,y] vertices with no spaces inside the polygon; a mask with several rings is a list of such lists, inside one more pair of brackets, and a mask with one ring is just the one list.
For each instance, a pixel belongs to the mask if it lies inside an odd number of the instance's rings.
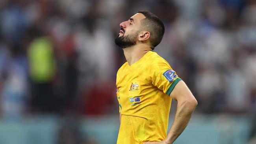
{"label": "yellow football jersey with green sleeve cuff and Australian crest", "polygon": [[117,144],[162,141],[167,135],[171,97],[181,79],[156,52],[124,63],[117,72],[121,124]]}

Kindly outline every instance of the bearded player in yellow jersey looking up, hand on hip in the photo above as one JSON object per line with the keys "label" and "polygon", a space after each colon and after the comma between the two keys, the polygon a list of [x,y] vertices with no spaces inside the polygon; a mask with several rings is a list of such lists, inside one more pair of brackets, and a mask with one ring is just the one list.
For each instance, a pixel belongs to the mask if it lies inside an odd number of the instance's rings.
{"label": "bearded player in yellow jersey looking up, hand on hip", "polygon": [[[117,144],[172,144],[187,126],[197,100],[167,61],[152,52],[163,37],[163,22],[140,11],[120,27],[115,43],[127,62],[117,72]],[[172,99],[178,106],[167,135]]]}

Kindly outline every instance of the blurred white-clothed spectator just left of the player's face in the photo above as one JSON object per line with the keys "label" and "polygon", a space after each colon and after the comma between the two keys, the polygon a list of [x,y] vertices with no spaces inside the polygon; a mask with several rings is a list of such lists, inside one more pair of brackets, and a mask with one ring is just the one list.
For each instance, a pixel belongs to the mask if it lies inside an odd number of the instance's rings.
{"label": "blurred white-clothed spectator just left of the player's face", "polygon": [[[108,22],[105,20],[99,21],[96,22],[92,31],[78,28],[75,33],[82,83],[106,82],[114,74],[115,46],[113,46],[113,36],[109,30]],[[89,76],[83,77],[85,73],[88,73]]]}

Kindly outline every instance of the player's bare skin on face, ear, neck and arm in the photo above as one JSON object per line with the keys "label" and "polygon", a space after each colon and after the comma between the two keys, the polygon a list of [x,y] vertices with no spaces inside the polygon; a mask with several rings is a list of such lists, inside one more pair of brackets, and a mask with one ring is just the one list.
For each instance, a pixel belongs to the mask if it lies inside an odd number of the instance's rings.
{"label": "player's bare skin on face, ear, neck and arm", "polygon": [[[129,20],[126,20],[120,24],[121,32],[118,37],[132,35],[134,33],[138,33],[137,37],[135,37],[135,45],[123,48],[124,56],[129,65],[134,64],[136,61],[141,59],[148,51],[152,49],[149,37],[150,32],[148,31],[140,31],[141,22],[145,18],[145,16],[141,13],[137,13]],[[138,32],[139,31],[139,32]],[[197,106],[197,100],[184,83],[184,81],[179,81],[174,87],[173,91],[170,94],[173,100],[178,102],[177,111],[174,118],[173,125],[167,135],[167,137],[162,142],[144,142],[143,144],[172,144],[176,138],[184,131],[195,107]],[[120,114],[120,122],[122,115]]]}

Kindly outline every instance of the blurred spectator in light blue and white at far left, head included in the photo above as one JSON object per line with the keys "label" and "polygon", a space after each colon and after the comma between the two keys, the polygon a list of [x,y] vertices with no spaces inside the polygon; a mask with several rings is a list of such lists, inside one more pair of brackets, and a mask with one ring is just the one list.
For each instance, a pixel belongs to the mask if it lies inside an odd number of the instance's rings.
{"label": "blurred spectator in light blue and white at far left, head included", "polygon": [[25,55],[0,46],[0,105],[2,114],[9,120],[17,120],[25,113],[28,99],[28,72]]}

